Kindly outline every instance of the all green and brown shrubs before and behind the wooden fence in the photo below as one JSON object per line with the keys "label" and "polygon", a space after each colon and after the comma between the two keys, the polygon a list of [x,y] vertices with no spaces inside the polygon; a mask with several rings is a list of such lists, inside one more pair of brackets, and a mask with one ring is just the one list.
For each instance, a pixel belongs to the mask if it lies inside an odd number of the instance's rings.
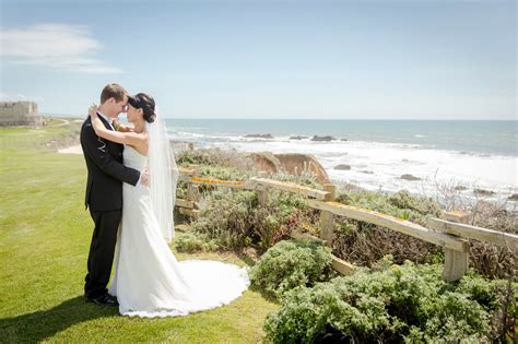
{"label": "all green and brown shrubs before and behind the wooden fence", "polygon": [[[190,156],[199,169],[196,157],[211,154],[219,151],[185,151],[181,156]],[[233,154],[236,162],[248,158]],[[226,155],[226,164],[237,166],[231,162]],[[246,180],[259,171],[248,164],[233,174]],[[323,189],[307,173],[268,177]],[[354,186],[339,189],[334,201],[422,226],[447,210],[404,190],[389,194]],[[320,235],[318,214],[297,194],[270,190],[261,203],[255,191],[208,188],[199,209],[190,220],[193,238],[212,242],[211,250],[255,251],[254,286],[281,301],[281,309],[264,322],[267,342],[309,343],[326,333],[356,342],[513,340],[517,284],[516,256],[509,249],[471,240],[469,273],[448,283],[442,276],[443,248],[362,221],[333,222],[330,249],[290,240],[295,230]],[[517,214],[502,204],[481,201],[464,210],[473,225],[517,234]],[[327,270],[331,253],[362,268],[352,276],[332,278]]]}

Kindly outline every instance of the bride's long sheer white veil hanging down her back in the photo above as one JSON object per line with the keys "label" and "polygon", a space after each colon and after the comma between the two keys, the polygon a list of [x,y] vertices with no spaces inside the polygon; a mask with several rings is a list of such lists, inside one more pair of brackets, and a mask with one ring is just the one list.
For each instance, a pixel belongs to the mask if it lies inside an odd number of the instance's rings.
{"label": "bride's long sheer white veil hanging down her back", "polygon": [[165,120],[157,107],[155,107],[155,120],[148,123],[151,201],[162,235],[167,242],[170,242],[175,235],[173,210],[175,209],[176,183],[179,173],[167,137]]}

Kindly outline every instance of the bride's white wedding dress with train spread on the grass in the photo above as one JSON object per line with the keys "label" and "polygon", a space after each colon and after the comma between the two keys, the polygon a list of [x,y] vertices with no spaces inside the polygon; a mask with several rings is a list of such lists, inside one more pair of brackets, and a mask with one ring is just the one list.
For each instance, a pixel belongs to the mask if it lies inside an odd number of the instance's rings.
{"label": "bride's white wedding dress with train spread on the grass", "polygon": [[[138,170],[146,157],[126,146],[125,165]],[[150,189],[123,183],[122,221],[109,294],[130,317],[177,317],[226,305],[249,285],[245,269],[216,261],[178,262],[155,218]]]}

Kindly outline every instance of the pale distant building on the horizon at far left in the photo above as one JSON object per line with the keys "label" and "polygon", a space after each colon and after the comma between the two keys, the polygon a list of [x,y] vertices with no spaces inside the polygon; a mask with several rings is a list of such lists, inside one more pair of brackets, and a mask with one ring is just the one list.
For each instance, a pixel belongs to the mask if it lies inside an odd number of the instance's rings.
{"label": "pale distant building on the horizon at far left", "polygon": [[0,102],[0,127],[33,126],[44,123],[34,102]]}

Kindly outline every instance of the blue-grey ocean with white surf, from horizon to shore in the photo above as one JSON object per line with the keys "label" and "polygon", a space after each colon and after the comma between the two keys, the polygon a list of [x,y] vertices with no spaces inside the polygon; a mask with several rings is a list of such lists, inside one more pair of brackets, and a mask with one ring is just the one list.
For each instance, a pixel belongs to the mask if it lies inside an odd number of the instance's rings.
{"label": "blue-grey ocean with white surf, from horizon to shore", "polygon": [[167,128],[173,141],[198,147],[313,154],[333,181],[369,190],[436,195],[437,185],[460,185],[467,198],[478,188],[498,201],[518,193],[518,121],[167,119]]}

